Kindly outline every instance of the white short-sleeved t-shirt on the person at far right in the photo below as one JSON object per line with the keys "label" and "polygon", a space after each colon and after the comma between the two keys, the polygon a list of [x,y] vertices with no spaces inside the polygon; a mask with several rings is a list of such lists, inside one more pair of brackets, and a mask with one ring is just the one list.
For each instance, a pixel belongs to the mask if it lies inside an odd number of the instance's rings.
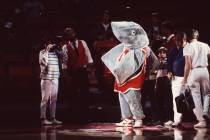
{"label": "white short-sleeved t-shirt on the person at far right", "polygon": [[207,67],[208,54],[210,54],[209,45],[200,41],[193,41],[183,49],[183,55],[192,59],[192,68]]}

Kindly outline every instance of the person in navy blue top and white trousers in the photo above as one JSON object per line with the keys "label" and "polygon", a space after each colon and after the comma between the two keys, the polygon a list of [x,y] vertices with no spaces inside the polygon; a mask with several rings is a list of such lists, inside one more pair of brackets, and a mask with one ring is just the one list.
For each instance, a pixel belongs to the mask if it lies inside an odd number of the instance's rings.
{"label": "person in navy blue top and white trousers", "polygon": [[184,32],[178,32],[175,36],[176,47],[171,49],[171,53],[168,58],[168,75],[169,79],[172,79],[172,94],[173,94],[173,111],[174,122],[168,121],[166,125],[178,126],[182,121],[182,114],[177,112],[175,98],[180,95],[181,82],[184,76],[184,56],[183,48],[188,45],[187,35]]}

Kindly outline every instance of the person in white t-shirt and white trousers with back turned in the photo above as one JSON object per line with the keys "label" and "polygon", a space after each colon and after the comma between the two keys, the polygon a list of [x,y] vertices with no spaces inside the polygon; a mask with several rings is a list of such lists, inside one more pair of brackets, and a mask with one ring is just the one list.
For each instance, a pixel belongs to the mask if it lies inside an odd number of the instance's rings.
{"label": "person in white t-shirt and white trousers with back turned", "polygon": [[[193,29],[191,42],[184,48],[185,71],[182,84],[188,84],[192,92],[195,103],[193,112],[198,120],[194,127],[206,127],[206,119],[209,119],[210,86],[207,66],[210,48],[208,44],[198,41],[198,37],[198,31]],[[201,95],[203,96],[203,104]]]}

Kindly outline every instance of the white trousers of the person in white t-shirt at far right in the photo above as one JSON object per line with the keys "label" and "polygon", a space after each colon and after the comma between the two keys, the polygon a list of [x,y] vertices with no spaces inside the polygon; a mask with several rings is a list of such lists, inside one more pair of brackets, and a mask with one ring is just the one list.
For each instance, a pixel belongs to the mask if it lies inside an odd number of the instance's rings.
{"label": "white trousers of the person in white t-shirt at far right", "polygon": [[[195,108],[193,112],[198,121],[203,121],[203,113],[208,113],[209,110],[209,72],[206,67],[194,68],[191,70],[188,84],[190,86]],[[203,104],[201,101],[201,92],[203,95]]]}

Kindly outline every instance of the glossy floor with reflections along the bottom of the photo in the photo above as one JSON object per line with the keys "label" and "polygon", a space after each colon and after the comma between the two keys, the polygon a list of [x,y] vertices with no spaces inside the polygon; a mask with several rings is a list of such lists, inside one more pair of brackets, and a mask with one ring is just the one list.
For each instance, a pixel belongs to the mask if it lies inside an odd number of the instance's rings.
{"label": "glossy floor with reflections along the bottom of the photo", "polygon": [[14,126],[0,130],[0,140],[209,140],[210,129],[194,129],[191,123],[182,128],[144,126],[115,127],[113,123],[61,126]]}

